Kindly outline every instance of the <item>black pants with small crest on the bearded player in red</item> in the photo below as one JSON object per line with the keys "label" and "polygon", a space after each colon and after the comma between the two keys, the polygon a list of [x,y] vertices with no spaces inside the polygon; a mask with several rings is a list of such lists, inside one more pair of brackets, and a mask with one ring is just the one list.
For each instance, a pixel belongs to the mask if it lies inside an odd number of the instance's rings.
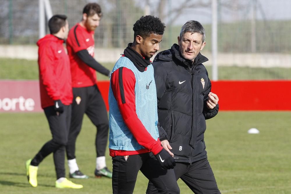
{"label": "black pants with small crest on the bearded player in red", "polygon": [[97,127],[95,139],[96,155],[105,156],[109,121],[106,106],[97,85],[73,88],[72,120],[66,146],[68,160],[76,158],[76,139],[82,127],[84,113]]}

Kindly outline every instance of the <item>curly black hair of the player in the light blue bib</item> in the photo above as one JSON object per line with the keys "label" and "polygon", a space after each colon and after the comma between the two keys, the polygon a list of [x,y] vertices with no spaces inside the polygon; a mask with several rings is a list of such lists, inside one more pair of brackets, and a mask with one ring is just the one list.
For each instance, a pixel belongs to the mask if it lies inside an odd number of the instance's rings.
{"label": "curly black hair of the player in the light blue bib", "polygon": [[133,25],[134,38],[140,35],[145,39],[152,33],[163,35],[165,27],[165,24],[158,17],[152,15],[141,16]]}

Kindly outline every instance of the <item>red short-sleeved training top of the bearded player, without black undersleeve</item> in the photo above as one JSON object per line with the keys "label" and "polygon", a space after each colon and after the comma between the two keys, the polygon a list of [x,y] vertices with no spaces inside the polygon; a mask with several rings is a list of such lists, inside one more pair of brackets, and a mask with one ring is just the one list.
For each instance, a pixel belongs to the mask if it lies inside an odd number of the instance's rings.
{"label": "red short-sleeved training top of the bearded player, without black undersleeve", "polygon": [[67,39],[73,88],[88,87],[96,84],[96,71],[77,56],[77,52],[85,49],[94,57],[94,31],[87,31],[85,27],[78,23],[70,29]]}

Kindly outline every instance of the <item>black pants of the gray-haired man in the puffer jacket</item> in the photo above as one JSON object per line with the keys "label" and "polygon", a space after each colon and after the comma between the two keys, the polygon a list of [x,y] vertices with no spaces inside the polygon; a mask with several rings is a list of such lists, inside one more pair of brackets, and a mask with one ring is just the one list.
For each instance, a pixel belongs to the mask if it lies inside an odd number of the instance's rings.
{"label": "black pants of the gray-haired man in the puffer jacket", "polygon": [[[192,163],[177,163],[174,167],[175,176],[182,179],[195,194],[221,194],[214,174],[207,159]],[[149,182],[147,194],[158,193],[155,186]]]}

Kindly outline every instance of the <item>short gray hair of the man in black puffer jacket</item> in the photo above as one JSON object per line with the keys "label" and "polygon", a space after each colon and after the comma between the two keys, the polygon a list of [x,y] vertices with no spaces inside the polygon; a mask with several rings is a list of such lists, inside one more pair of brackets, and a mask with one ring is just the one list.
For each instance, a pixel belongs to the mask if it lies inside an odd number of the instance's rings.
{"label": "short gray hair of the man in black puffer jacket", "polygon": [[202,42],[205,42],[205,29],[200,24],[200,22],[195,21],[195,20],[189,20],[188,22],[186,22],[181,28],[180,38],[182,38],[186,32],[201,34]]}

